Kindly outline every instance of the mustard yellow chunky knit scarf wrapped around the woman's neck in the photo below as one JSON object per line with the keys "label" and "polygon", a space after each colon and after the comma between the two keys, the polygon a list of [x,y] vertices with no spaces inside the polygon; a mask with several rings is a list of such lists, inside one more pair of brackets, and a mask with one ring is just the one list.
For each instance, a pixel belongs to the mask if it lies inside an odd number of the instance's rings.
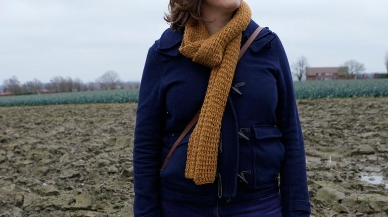
{"label": "mustard yellow chunky knit scarf wrapped around the woman's neck", "polygon": [[219,32],[209,36],[205,25],[185,26],[179,51],[193,62],[212,68],[200,117],[188,140],[185,177],[197,185],[213,183],[217,170],[221,120],[237,64],[243,32],[251,9],[242,2]]}

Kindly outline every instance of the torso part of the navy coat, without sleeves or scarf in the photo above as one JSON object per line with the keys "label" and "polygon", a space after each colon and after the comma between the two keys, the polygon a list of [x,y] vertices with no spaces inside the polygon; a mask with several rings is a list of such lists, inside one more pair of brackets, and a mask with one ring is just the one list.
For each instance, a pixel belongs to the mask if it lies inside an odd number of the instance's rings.
{"label": "torso part of the navy coat, without sleeves or scarf", "polygon": [[[241,46],[257,26],[251,21],[243,32]],[[160,172],[163,197],[211,204],[227,202],[230,198],[258,197],[278,190],[277,177],[284,147],[276,127],[276,37],[264,29],[236,65],[232,81],[235,89],[230,89],[221,123],[215,183],[196,185],[184,177],[187,142],[193,127]],[[179,54],[181,39],[181,33],[168,29],[153,46],[162,71],[167,110],[161,162],[201,108],[211,72],[211,68]]]}

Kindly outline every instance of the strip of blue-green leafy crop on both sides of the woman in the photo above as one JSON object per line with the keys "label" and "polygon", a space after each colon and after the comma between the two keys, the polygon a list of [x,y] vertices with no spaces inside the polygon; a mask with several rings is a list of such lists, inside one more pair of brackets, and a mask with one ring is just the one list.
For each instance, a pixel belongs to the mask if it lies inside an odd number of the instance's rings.
{"label": "strip of blue-green leafy crop on both sides of the woman", "polygon": [[[387,97],[388,79],[294,82],[298,99]],[[0,106],[137,102],[138,89],[0,97]]]}

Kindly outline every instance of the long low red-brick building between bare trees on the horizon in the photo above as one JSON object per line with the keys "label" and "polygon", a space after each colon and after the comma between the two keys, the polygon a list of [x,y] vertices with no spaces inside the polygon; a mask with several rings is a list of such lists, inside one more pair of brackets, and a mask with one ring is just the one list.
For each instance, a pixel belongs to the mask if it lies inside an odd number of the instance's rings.
{"label": "long low red-brick building between bare trees on the horizon", "polygon": [[306,67],[306,81],[345,80],[348,67]]}

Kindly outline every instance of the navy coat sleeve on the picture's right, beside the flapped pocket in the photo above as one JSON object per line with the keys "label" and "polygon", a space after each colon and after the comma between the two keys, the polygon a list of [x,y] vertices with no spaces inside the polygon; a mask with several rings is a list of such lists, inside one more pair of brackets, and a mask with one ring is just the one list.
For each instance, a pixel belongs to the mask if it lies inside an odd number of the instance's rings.
{"label": "navy coat sleeve on the picture's right, beside the flapped pocket", "polygon": [[278,37],[276,37],[276,58],[278,61],[276,119],[285,149],[285,158],[280,170],[282,212],[283,217],[307,217],[311,212],[311,204],[307,187],[305,146],[293,78]]}

